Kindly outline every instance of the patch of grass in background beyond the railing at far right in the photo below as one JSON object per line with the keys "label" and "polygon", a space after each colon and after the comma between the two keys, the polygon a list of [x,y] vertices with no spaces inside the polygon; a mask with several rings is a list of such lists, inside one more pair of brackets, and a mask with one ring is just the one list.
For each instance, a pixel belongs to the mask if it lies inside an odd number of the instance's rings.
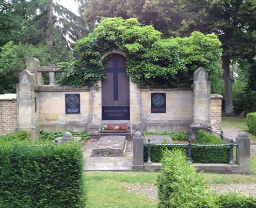
{"label": "patch of grass in background beyond the railing at far right", "polygon": [[252,140],[256,141],[256,136],[248,132],[248,127],[245,124],[245,118],[222,117],[222,126],[227,128],[228,127],[240,128],[241,131],[246,132]]}

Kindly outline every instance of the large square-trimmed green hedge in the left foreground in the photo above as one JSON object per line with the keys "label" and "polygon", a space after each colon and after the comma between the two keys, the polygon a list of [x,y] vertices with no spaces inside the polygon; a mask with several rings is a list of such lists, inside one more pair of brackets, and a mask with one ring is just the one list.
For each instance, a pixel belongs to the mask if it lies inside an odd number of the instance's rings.
{"label": "large square-trimmed green hedge in the left foreground", "polygon": [[84,208],[80,144],[37,144],[0,142],[0,208]]}

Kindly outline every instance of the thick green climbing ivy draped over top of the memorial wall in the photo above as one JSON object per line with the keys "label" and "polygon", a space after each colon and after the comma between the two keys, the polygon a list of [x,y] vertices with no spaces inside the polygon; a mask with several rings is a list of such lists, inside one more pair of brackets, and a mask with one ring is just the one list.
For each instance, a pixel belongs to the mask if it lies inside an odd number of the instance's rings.
{"label": "thick green climbing ivy draped over top of the memorial wall", "polygon": [[107,51],[116,49],[127,55],[127,73],[138,87],[191,86],[193,73],[204,67],[209,77],[220,72],[221,42],[215,34],[193,32],[188,38],[162,39],[153,26],[141,26],[136,18],[102,20],[94,32],[79,40],[76,60],[62,63],[65,75],[59,84],[93,86],[106,78]]}

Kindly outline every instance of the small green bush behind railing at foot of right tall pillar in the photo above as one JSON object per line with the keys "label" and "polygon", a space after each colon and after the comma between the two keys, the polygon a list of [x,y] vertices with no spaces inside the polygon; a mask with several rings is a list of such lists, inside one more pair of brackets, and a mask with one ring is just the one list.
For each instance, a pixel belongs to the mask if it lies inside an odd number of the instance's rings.
{"label": "small green bush behind railing at foot of right tall pillar", "polygon": [[195,142],[197,144],[226,144],[220,137],[216,137],[207,131],[198,131],[196,133]]}

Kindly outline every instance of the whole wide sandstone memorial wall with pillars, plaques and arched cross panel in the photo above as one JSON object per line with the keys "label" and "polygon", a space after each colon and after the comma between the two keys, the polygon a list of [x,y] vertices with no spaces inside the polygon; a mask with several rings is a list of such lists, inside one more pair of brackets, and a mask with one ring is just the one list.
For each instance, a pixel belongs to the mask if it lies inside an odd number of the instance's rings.
{"label": "whole wide sandstone memorial wall with pillars, plaques and arched cross panel", "polygon": [[[104,124],[128,125],[130,134],[141,132],[188,132],[211,125],[221,130],[221,98],[210,95],[208,74],[203,68],[194,73],[193,89],[139,89],[126,73],[126,55],[112,50],[101,60],[112,55],[107,64],[107,79],[94,87],[59,86],[56,79],[64,69],[40,66],[40,61],[30,57],[27,69],[19,75],[17,84],[17,127],[31,132],[33,139],[39,129],[87,130],[97,137]],[[48,84],[44,74],[48,73]],[[1,115],[8,100],[1,100]],[[14,99],[10,108],[13,111]],[[14,115],[0,117],[10,121]],[[14,127],[15,125],[12,124]],[[14,129],[13,129],[14,130]]]}

